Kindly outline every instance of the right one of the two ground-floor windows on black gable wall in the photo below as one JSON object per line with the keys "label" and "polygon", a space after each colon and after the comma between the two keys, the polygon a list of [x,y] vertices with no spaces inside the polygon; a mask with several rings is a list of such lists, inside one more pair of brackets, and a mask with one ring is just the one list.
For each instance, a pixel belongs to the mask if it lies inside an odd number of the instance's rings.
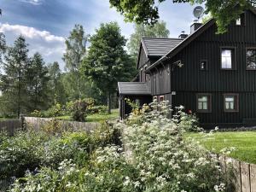
{"label": "right one of the two ground-floor windows on black gable wall", "polygon": [[237,94],[224,94],[224,112],[238,112]]}

